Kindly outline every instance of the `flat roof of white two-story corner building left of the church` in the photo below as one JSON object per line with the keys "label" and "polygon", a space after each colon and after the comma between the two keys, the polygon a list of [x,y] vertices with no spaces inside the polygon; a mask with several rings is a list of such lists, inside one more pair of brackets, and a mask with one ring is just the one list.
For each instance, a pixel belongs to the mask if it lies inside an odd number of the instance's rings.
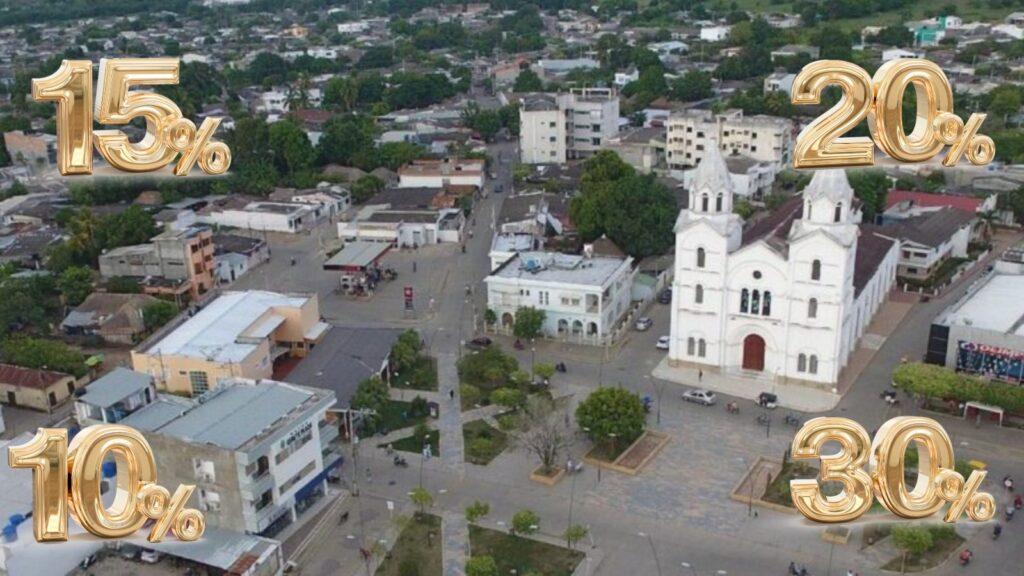
{"label": "flat roof of white two-story corner building left of the church", "polygon": [[632,258],[594,256],[555,252],[518,252],[487,279],[527,280],[578,286],[604,286]]}

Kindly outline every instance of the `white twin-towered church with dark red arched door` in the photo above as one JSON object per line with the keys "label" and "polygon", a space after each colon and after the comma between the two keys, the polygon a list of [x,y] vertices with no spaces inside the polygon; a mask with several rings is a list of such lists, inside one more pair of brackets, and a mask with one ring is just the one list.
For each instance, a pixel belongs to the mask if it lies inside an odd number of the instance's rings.
{"label": "white twin-towered church with dark red arched door", "polygon": [[670,370],[833,390],[896,277],[897,243],[861,227],[842,170],[744,229],[717,146],[676,220]]}

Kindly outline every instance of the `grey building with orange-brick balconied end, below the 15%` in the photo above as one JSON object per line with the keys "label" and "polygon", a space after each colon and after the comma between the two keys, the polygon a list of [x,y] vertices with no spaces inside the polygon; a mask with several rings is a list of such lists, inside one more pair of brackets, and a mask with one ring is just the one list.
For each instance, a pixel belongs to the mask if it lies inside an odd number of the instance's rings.
{"label": "grey building with orange-brick balconied end, below the 15%", "polygon": [[170,229],[148,244],[115,248],[99,256],[103,278],[127,276],[145,279],[151,294],[190,294],[198,298],[215,286],[213,232],[205,225]]}

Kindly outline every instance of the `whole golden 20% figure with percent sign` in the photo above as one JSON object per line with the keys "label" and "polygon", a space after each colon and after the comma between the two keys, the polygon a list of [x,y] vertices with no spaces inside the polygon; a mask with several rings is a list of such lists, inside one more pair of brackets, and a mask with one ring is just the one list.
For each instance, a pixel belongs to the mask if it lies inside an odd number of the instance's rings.
{"label": "whole golden 20% figure with percent sign", "polygon": [[[795,105],[821,104],[828,86],[843,91],[840,100],[807,125],[794,147],[795,168],[871,166],[874,147],[897,162],[924,162],[949,146],[943,166],[954,166],[965,156],[975,165],[995,156],[992,138],[979,134],[985,114],[965,122],[953,114],[949,79],[935,63],[921,58],[890,60],[869,76],[859,66],[843,60],[818,60],[800,71],[793,82]],[[916,95],[913,129],[903,125],[903,95]],[[867,119],[871,137],[843,136]]]}

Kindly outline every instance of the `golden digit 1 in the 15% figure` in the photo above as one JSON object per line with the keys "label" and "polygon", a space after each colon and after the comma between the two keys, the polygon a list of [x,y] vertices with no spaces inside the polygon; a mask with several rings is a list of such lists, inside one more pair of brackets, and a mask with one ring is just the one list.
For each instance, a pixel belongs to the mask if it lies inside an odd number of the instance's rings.
{"label": "golden digit 1 in the 15% figure", "polygon": [[45,78],[32,81],[32,98],[57,102],[57,169],[92,173],[92,63],[63,60]]}

